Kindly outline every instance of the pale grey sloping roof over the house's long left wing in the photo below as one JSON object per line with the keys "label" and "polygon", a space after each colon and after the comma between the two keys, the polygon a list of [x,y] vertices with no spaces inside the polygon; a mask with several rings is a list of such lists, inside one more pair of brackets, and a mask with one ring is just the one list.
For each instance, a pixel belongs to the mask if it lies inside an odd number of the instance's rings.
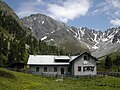
{"label": "pale grey sloping roof over the house's long left wing", "polygon": [[30,55],[28,65],[69,65],[69,62],[55,62],[55,59],[70,59],[69,56]]}

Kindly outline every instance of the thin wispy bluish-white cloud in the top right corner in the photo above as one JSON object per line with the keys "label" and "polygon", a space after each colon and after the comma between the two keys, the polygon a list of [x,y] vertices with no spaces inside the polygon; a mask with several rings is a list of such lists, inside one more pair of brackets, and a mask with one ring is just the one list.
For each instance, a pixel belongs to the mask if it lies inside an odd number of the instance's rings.
{"label": "thin wispy bluish-white cloud in the top right corner", "polygon": [[[116,12],[120,12],[120,0],[105,0],[98,3],[93,10],[93,15],[96,14],[106,14],[106,15],[116,15]],[[96,12],[97,11],[97,12]]]}

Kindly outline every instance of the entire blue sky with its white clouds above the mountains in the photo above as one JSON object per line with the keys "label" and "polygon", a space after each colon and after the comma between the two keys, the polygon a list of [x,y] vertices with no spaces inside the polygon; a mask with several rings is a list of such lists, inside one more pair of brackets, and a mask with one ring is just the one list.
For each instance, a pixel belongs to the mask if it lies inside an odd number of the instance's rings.
{"label": "entire blue sky with its white clouds above the mountains", "polygon": [[120,26],[120,0],[3,0],[20,17],[42,13],[70,26],[106,30]]}

